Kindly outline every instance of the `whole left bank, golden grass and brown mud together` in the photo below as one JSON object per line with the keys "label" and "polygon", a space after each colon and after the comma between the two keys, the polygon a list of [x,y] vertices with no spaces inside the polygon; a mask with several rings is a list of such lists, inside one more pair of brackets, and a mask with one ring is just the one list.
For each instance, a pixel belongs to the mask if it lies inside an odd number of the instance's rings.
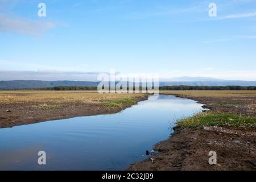
{"label": "whole left bank, golden grass and brown mud together", "polygon": [[0,91],[0,127],[116,113],[146,98],[146,94],[94,91]]}

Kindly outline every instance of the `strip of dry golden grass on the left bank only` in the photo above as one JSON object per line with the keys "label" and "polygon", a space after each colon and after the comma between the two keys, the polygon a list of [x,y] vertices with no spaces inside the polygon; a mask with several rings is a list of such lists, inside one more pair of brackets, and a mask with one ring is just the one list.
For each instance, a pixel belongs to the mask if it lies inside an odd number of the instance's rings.
{"label": "strip of dry golden grass on the left bank only", "polygon": [[0,91],[0,104],[27,102],[99,104],[137,97],[142,97],[142,94],[99,94],[93,91]]}

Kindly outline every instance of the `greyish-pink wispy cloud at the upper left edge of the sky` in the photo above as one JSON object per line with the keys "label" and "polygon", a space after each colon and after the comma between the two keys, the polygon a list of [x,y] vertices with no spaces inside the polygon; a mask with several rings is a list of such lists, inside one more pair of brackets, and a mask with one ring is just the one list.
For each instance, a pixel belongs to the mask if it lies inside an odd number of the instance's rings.
{"label": "greyish-pink wispy cloud at the upper left edge of the sky", "polygon": [[19,34],[40,36],[55,26],[53,22],[0,15],[0,33],[11,31]]}

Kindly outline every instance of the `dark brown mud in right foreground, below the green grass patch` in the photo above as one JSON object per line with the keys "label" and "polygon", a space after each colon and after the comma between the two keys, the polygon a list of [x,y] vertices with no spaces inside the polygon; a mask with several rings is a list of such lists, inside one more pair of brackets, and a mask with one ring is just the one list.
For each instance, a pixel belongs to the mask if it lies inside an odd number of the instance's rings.
{"label": "dark brown mud in right foreground, below the green grass patch", "polygon": [[[155,145],[159,154],[127,170],[256,170],[255,129],[181,129]],[[217,152],[217,165],[208,163]]]}

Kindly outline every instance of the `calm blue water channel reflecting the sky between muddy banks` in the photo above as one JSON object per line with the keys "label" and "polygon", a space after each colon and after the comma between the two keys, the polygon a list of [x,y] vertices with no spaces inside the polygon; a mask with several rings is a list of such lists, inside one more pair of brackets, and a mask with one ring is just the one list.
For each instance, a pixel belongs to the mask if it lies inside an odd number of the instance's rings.
{"label": "calm blue water channel reflecting the sky between muddy banks", "polygon": [[[122,170],[167,139],[175,119],[202,110],[196,101],[160,95],[121,113],[0,129],[0,170]],[[46,151],[46,165],[38,164]]]}

